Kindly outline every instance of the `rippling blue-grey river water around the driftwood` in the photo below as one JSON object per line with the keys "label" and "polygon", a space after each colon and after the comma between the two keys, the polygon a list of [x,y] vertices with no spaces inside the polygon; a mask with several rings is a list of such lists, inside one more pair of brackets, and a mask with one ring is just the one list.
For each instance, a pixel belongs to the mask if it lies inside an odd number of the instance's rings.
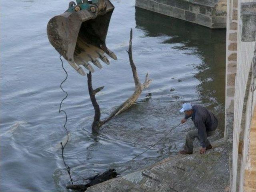
{"label": "rippling blue-grey river water around the driftwood", "polygon": [[[201,104],[216,114],[224,130],[226,30],[210,30],[135,8],[135,1],[112,0],[115,6],[107,45],[118,56],[92,74],[103,118],[134,90],[128,40],[133,29],[133,56],[141,81],[153,80],[132,108],[91,133],[94,110],[86,76],[65,61],[70,142],[65,158],[75,183],[116,168],[126,174],[177,154],[189,120],[142,156],[164,132],[179,124],[184,102]],[[64,0],[1,2],[1,191],[65,191],[69,177],[61,158],[66,140],[64,115],[58,113],[65,78],[58,52],[48,42],[46,25],[68,7]]]}

